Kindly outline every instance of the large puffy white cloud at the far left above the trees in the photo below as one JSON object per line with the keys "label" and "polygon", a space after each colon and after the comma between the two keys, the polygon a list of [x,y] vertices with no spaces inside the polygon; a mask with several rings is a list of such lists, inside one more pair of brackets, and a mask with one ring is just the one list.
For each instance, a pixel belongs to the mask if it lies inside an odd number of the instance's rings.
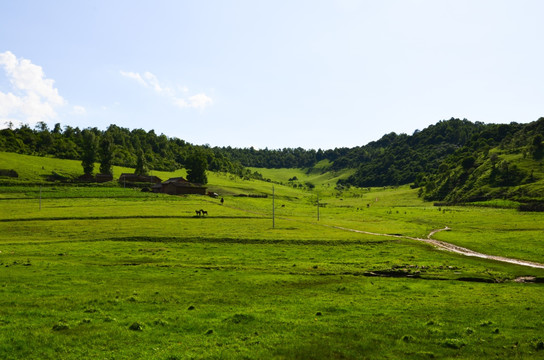
{"label": "large puffy white cloud at the far left above the trees", "polygon": [[0,91],[0,121],[17,119],[35,124],[57,117],[55,109],[66,101],[41,66],[6,51],[0,53],[0,67],[11,85],[10,92]]}

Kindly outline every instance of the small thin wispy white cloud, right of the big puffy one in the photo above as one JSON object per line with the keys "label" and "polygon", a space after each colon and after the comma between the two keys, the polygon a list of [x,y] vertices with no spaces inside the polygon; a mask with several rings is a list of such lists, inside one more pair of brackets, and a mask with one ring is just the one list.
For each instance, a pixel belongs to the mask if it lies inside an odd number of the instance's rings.
{"label": "small thin wispy white cloud, right of the big puffy one", "polygon": [[149,71],[146,71],[143,75],[122,70],[120,73],[124,77],[136,80],[140,85],[153,89],[157,94],[170,98],[172,103],[180,108],[204,109],[213,103],[212,99],[206,94],[186,96],[185,94],[189,93],[186,86],[177,86],[178,91],[185,95],[179,96],[173,89],[161,85],[159,79]]}

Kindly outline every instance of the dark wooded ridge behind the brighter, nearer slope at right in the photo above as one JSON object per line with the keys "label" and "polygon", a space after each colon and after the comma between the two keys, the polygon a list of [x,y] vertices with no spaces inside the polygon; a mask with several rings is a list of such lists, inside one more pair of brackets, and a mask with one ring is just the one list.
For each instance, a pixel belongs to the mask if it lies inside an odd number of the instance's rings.
{"label": "dark wooded ridge behind the brighter, nearer slope at right", "polygon": [[[321,160],[329,160],[328,170],[357,169],[355,174],[340,180],[346,186],[390,186],[415,183],[416,187],[439,181],[434,175],[443,174],[460,162],[466,154],[488,153],[501,145],[519,153],[532,141],[535,134],[542,134],[539,127],[531,124],[484,124],[466,119],[440,121],[412,135],[390,133],[381,139],[354,148],[331,150],[281,149],[256,150],[222,148],[231,159],[244,166],[265,168],[311,168]],[[535,127],[535,130],[530,130]],[[508,143],[514,140],[513,144]],[[441,164],[448,159],[447,167]],[[515,161],[514,161],[515,162]],[[457,164],[460,166],[460,163]],[[439,170],[440,169],[440,170]],[[515,183],[514,180],[509,183]],[[430,184],[430,183],[429,183]],[[502,183],[501,183],[502,184]],[[429,185],[432,188],[432,185]],[[446,188],[443,188],[446,189]],[[431,190],[429,190],[432,192]],[[446,191],[447,190],[443,190]],[[432,195],[431,198],[441,198]]]}

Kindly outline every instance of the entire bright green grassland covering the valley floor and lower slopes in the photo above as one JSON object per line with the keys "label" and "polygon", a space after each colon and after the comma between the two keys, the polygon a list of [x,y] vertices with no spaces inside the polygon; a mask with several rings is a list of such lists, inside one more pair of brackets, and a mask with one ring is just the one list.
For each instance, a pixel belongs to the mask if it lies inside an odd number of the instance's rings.
{"label": "entire bright green grassland covering the valley floor and lower slopes", "polygon": [[311,173],[284,170],[263,173],[273,182],[209,173],[221,205],[48,183],[42,166],[81,167],[0,153],[0,168],[23,174],[0,180],[2,359],[544,358],[544,270],[335,228],[449,226],[435,238],[544,262],[541,213],[438,208],[408,187],[315,178],[309,191],[284,178]]}

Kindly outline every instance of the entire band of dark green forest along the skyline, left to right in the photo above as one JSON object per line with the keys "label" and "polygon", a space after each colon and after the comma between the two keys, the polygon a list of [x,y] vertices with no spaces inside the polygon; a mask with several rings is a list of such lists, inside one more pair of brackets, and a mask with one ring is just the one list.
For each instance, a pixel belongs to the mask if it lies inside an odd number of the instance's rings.
{"label": "entire band of dark green forest along the skyline, left to right", "polygon": [[511,189],[541,179],[543,140],[544,118],[529,124],[451,118],[412,135],[393,132],[364,146],[329,150],[210,147],[157,135],[153,130],[110,125],[102,131],[61,124],[49,129],[41,122],[33,129],[22,125],[0,130],[0,151],[76,159],[82,164],[101,161],[101,173],[112,165],[143,172],[205,166],[257,179],[262,179],[260,174],[248,167],[311,169],[327,160],[328,167],[321,166],[322,171],[355,169],[353,175],[339,181],[340,186],[412,184],[427,200],[453,203],[544,197],[540,190],[527,190],[529,187]]}

